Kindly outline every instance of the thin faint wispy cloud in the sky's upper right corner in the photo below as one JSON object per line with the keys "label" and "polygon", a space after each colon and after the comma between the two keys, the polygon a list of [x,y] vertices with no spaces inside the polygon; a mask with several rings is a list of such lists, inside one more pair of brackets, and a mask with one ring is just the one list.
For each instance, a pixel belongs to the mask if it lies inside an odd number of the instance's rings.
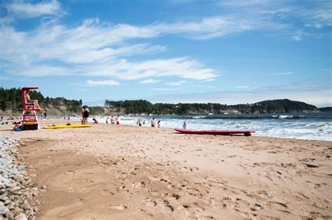
{"label": "thin faint wispy cloud in the sky's upper right corner", "polygon": [[307,4],[298,4],[296,0],[217,2],[218,6],[235,17],[247,15],[252,24],[263,22],[272,27],[281,27],[284,34],[291,36],[294,41],[301,41],[304,37],[320,37],[321,34],[313,32],[312,27],[321,29],[332,26],[331,1],[312,1],[309,4],[310,7],[307,7]]}

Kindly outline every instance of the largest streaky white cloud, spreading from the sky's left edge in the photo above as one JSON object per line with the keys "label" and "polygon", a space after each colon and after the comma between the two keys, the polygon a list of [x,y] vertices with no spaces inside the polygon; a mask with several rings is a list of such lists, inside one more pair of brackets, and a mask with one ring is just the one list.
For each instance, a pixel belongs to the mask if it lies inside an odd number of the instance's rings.
{"label": "largest streaky white cloud, spreading from the sky's left edge", "polygon": [[[171,29],[174,30],[174,27]],[[166,50],[165,46],[150,43],[130,44],[130,39],[155,38],[172,30],[160,24],[146,27],[112,26],[102,24],[99,19],[84,20],[81,25],[74,27],[52,23],[42,25],[33,32],[18,32],[11,26],[3,25],[0,27],[0,38],[6,43],[0,45],[0,59],[7,62],[3,71],[9,75],[79,74],[123,80],[160,76],[195,80],[216,77],[213,69],[205,68],[190,57],[141,62],[128,60],[130,56]],[[50,62],[57,64],[46,64]]]}

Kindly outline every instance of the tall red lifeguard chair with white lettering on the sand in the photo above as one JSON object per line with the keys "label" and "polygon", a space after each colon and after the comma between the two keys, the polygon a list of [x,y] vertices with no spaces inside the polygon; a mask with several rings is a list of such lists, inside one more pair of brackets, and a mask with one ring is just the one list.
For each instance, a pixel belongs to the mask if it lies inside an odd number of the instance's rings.
{"label": "tall red lifeguard chair with white lettering on the sand", "polygon": [[28,90],[38,90],[38,87],[23,87],[22,88],[22,104],[23,104],[23,112],[21,125],[24,125],[25,128],[29,128],[26,130],[36,130],[39,129],[39,121],[36,111],[41,111],[41,109],[36,109],[34,103],[27,103],[25,99],[25,94]]}

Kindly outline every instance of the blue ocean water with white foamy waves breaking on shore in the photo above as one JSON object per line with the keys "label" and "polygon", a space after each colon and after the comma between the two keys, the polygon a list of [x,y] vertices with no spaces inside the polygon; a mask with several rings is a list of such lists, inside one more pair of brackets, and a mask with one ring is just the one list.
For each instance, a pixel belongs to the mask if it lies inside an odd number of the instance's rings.
{"label": "blue ocean water with white foamy waves breaking on shore", "polygon": [[[107,116],[96,116],[105,123]],[[205,116],[120,116],[121,125],[137,125],[139,118],[150,127],[151,118],[163,128],[191,130],[256,130],[255,136],[332,141],[332,112],[310,114],[214,114]],[[92,117],[90,117],[92,121]],[[138,126],[138,125],[137,125]]]}

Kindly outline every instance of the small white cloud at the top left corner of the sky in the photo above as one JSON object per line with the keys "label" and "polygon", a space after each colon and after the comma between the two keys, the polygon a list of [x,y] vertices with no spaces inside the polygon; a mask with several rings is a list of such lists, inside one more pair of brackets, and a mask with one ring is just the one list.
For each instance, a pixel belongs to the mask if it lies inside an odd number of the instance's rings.
{"label": "small white cloud at the top left corner of the sky", "polygon": [[20,18],[37,18],[42,15],[57,15],[62,11],[60,3],[57,1],[41,2],[39,4],[24,3],[14,1],[7,5],[9,13]]}

